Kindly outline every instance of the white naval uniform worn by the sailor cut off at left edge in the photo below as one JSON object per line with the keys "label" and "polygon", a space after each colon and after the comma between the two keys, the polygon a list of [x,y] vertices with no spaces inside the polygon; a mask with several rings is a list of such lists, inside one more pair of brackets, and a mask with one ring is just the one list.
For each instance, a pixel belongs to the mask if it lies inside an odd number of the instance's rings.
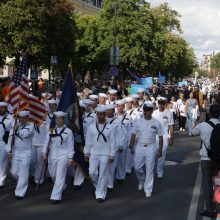
{"label": "white naval uniform worn by the sailor cut off at left edge", "polygon": [[[4,120],[4,121],[3,121]],[[0,116],[0,186],[5,185],[7,172],[7,153],[6,143],[3,140],[5,131],[9,132],[12,128],[13,118],[11,115]]]}

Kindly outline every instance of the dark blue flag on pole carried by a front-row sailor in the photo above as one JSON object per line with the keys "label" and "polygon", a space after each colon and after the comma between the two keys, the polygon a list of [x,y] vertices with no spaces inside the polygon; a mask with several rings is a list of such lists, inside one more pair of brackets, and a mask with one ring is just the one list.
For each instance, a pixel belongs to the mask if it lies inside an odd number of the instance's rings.
{"label": "dark blue flag on pole carried by a front-row sailor", "polygon": [[83,154],[85,140],[83,133],[82,114],[80,111],[77,92],[70,69],[67,71],[67,77],[63,85],[57,111],[63,111],[67,113],[65,124],[72,130],[74,135],[75,154],[73,160],[83,175],[88,176],[89,164],[84,160]]}

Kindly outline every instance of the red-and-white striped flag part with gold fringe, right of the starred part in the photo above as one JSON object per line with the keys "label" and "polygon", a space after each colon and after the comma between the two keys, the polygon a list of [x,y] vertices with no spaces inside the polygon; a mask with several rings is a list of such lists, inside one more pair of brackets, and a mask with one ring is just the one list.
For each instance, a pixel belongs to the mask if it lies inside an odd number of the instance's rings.
{"label": "red-and-white striped flag part with gold fringe, right of the starred part", "polygon": [[28,110],[30,111],[30,121],[40,125],[43,122],[47,112],[45,105],[40,102],[36,96],[29,95]]}

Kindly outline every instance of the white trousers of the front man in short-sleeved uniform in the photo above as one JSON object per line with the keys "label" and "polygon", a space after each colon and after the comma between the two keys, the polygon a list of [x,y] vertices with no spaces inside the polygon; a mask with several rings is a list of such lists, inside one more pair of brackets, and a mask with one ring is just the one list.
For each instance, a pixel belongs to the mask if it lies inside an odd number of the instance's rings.
{"label": "white trousers of the front man in short-sleeved uniform", "polygon": [[[134,169],[139,184],[144,184],[146,194],[151,194],[154,182],[156,146],[154,144],[148,147],[138,146],[135,149]],[[145,171],[144,172],[144,166]]]}

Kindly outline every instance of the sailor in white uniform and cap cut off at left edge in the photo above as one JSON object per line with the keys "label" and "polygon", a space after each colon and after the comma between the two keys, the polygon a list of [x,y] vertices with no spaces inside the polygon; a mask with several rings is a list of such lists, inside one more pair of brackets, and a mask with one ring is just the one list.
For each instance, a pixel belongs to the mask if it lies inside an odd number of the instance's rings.
{"label": "sailor in white uniform and cap cut off at left edge", "polygon": [[0,102],[0,189],[5,186],[7,172],[6,144],[8,143],[9,131],[12,128],[13,118],[7,114],[7,102]]}

